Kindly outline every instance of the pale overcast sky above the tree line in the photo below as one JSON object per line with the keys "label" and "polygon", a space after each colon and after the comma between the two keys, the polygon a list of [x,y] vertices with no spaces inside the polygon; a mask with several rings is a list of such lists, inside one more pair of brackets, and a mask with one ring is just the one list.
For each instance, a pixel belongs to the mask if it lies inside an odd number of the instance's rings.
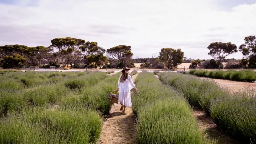
{"label": "pale overcast sky above the tree line", "polygon": [[130,45],[133,58],[168,47],[207,59],[211,42],[239,47],[256,35],[256,0],[0,0],[0,21],[0,45],[75,37],[105,49]]}

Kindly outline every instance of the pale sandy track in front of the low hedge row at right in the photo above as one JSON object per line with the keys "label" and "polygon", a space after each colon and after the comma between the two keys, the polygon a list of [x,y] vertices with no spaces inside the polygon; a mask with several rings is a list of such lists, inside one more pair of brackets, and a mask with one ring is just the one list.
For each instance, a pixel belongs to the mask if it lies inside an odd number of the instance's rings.
{"label": "pale sandy track in front of the low hedge row at right", "polygon": [[223,79],[211,79],[211,78],[202,78],[201,79],[209,79],[217,82],[220,86],[228,88],[230,91],[239,92],[243,88],[256,88],[256,83],[247,83],[247,82],[239,82],[239,81],[230,81]]}

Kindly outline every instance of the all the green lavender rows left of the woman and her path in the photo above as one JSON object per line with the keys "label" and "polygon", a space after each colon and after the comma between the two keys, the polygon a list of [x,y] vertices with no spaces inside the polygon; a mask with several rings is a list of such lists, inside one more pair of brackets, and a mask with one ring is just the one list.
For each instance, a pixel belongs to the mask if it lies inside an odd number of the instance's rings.
{"label": "all the green lavender rows left of the woman and her path", "polygon": [[[0,90],[0,143],[95,144],[102,114],[110,111],[108,93],[118,78],[105,72],[20,72],[0,77],[5,81]],[[43,82],[36,84],[34,79]],[[76,83],[74,89],[65,85],[74,79],[82,81],[79,89]],[[27,83],[30,80],[32,84]]]}

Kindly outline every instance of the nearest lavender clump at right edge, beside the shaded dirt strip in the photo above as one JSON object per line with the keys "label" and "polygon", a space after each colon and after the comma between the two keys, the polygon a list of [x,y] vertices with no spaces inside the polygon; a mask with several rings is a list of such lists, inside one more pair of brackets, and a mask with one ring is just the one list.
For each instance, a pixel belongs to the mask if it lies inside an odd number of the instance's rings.
{"label": "nearest lavender clump at right edge, beside the shaded dirt strip", "polygon": [[256,142],[255,93],[247,89],[234,97],[211,100],[210,114],[214,122],[244,143]]}

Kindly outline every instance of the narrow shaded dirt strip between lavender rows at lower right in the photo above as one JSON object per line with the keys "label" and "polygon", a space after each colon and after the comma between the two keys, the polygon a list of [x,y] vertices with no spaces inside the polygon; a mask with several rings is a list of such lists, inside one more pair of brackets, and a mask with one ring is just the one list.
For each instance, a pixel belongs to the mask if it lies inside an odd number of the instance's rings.
{"label": "narrow shaded dirt strip between lavender rows at lower right", "polygon": [[204,136],[210,140],[218,141],[217,144],[242,144],[221,131],[213,122],[212,118],[210,118],[210,116],[203,110],[193,108],[193,115],[197,118],[199,131],[202,131]]}

